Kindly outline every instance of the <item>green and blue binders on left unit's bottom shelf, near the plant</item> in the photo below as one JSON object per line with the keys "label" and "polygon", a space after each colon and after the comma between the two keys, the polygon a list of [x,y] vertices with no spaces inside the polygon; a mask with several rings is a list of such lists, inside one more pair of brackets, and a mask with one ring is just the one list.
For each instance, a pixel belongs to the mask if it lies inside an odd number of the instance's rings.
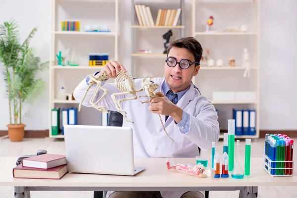
{"label": "green and blue binders on left unit's bottom shelf, near the plant", "polygon": [[51,109],[51,135],[58,135],[60,131],[64,135],[66,124],[77,125],[77,111],[77,108]]}

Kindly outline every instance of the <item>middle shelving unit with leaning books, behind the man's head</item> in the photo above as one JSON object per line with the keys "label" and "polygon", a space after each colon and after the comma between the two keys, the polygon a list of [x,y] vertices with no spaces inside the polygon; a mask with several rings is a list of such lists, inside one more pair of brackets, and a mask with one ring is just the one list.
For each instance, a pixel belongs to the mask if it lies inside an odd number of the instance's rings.
{"label": "middle shelving unit with leaning books, behind the man's head", "polygon": [[[153,25],[152,24],[141,25],[139,23],[136,9],[134,6],[135,4],[141,4],[149,7],[150,13],[152,15]],[[181,8],[181,12],[176,24],[174,23],[172,23],[171,25],[156,24],[159,9],[178,9],[178,8]],[[153,65],[159,65],[159,66],[164,65],[164,59],[166,58],[167,54],[163,53],[163,50],[164,50],[164,47],[163,47],[164,40],[162,39],[163,34],[165,34],[169,30],[172,30],[173,36],[176,39],[185,36],[185,28],[186,28],[185,0],[131,0],[131,11],[132,11],[132,14],[131,14],[131,42],[132,43],[131,43],[131,72],[130,73],[134,77],[143,77],[148,73],[149,75],[151,74],[150,73],[151,70],[148,71],[147,73],[143,72],[142,70],[147,67],[146,64],[148,62]],[[145,34],[147,35],[144,36]],[[138,37],[141,37],[141,39],[139,39],[141,42],[139,43],[137,41]],[[139,52],[139,48],[141,48],[140,46],[143,46],[140,43],[146,43],[148,46],[150,46],[152,48],[151,52],[150,53]],[[144,46],[146,46],[146,44],[144,44]],[[145,64],[139,63],[139,61],[144,61]],[[162,73],[162,71],[160,70],[159,71],[155,70],[155,72]],[[151,75],[155,76],[155,74],[151,74]]]}

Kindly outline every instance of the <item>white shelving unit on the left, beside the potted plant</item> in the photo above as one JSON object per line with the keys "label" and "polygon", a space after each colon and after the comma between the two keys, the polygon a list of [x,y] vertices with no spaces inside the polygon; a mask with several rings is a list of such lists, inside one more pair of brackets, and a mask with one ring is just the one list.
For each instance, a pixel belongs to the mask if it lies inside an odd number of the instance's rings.
{"label": "white shelving unit on the left, beside the potted plant", "polygon": [[[119,0],[51,0],[50,11],[49,137],[64,138],[60,133],[51,133],[51,109],[78,107],[79,102],[57,99],[57,87],[71,85],[67,90],[67,93],[71,94],[87,75],[100,71],[102,66],[89,66],[89,53],[108,53],[108,60],[118,59]],[[80,31],[61,30],[62,20],[79,20]],[[109,31],[85,31],[87,24],[91,28],[97,25],[98,29],[100,25],[107,25]],[[110,45],[110,42],[113,44]],[[68,66],[67,62],[66,66],[58,65],[56,54],[61,50],[63,56],[65,49],[70,49],[70,53],[75,52],[79,66]],[[104,51],[105,49],[107,51]],[[62,80],[59,79],[61,76]],[[57,85],[59,83],[61,85]],[[96,109],[86,108],[84,111],[85,116],[92,111],[94,113]],[[80,113],[77,115],[78,120],[81,118]],[[93,120],[94,125],[98,125],[97,121],[100,122],[99,118]]]}

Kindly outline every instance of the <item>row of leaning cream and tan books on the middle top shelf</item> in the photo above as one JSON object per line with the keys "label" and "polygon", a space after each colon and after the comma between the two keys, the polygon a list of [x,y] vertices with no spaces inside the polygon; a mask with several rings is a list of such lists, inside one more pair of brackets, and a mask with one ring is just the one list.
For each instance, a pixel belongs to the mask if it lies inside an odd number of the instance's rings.
{"label": "row of leaning cream and tan books on the middle top shelf", "polygon": [[134,8],[140,26],[176,26],[181,14],[181,8],[158,9],[154,22],[149,6],[134,4]]}

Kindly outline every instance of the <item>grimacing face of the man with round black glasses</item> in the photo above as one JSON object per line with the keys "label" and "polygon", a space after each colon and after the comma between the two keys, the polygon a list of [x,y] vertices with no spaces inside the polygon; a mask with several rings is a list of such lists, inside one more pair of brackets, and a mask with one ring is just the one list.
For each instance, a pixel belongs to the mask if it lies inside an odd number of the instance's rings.
{"label": "grimacing face of the man with round black glasses", "polygon": [[[176,58],[177,62],[186,59],[189,60],[190,64],[195,61],[194,55],[186,48],[173,47],[170,49],[168,57]],[[189,87],[193,76],[198,74],[199,68],[200,66],[195,67],[195,64],[187,69],[182,69],[179,64],[176,64],[174,67],[169,67],[165,62],[164,76],[166,83],[173,92],[183,91]]]}

